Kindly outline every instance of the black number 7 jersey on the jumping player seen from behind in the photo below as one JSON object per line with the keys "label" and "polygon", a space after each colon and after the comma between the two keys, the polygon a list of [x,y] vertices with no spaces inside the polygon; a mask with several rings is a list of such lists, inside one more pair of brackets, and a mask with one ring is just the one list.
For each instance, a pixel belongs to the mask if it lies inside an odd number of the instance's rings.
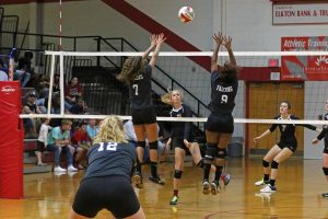
{"label": "black number 7 jersey on the jumping player seen from behind", "polygon": [[152,67],[147,65],[133,82],[129,83],[130,106],[132,110],[142,110],[153,106],[152,103]]}

